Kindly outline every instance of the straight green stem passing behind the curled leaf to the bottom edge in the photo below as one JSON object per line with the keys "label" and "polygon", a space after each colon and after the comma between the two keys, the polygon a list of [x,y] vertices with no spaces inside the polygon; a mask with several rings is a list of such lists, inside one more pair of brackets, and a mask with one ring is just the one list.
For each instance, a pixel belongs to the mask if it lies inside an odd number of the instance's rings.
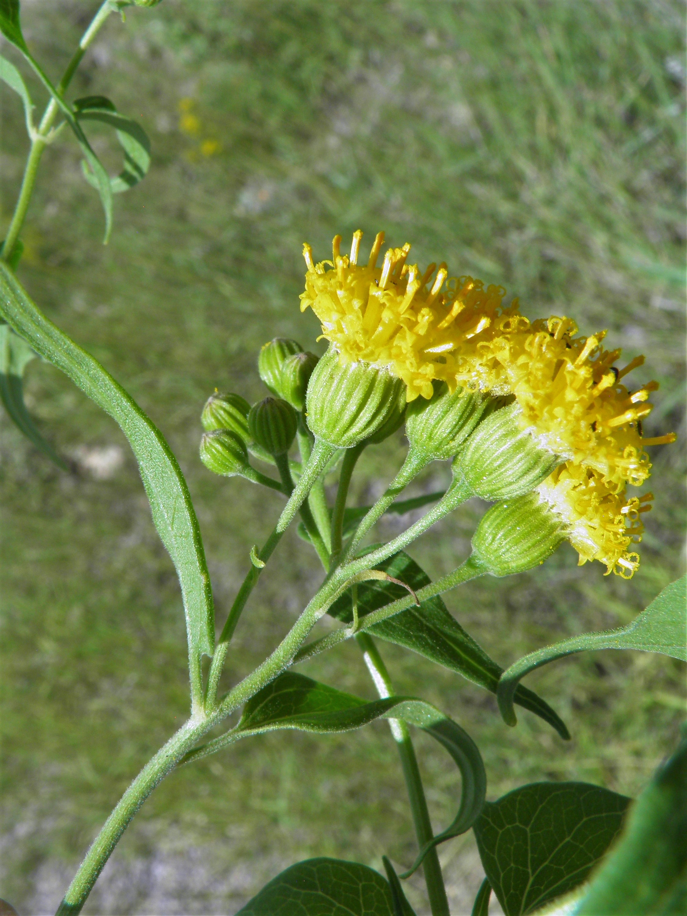
{"label": "straight green stem passing behind the curled leaf to the bottom edge", "polygon": [[[355,641],[363,652],[365,665],[370,672],[372,680],[375,682],[376,691],[381,699],[384,700],[387,696],[393,696],[394,688],[391,678],[388,675],[384,660],[382,660],[376,648],[374,639],[368,636],[367,633],[357,633]],[[418,838],[420,849],[423,849],[433,839],[434,834],[431,829],[427,800],[422,788],[418,758],[415,756],[415,748],[413,747],[408,725],[402,719],[389,719],[388,724],[396,741],[396,747],[398,747],[398,756],[401,760],[403,778],[406,780],[415,835]],[[436,847],[427,853],[422,863],[422,868],[425,875],[425,884],[427,885],[427,895],[430,898],[432,916],[450,916],[449,902],[446,899],[446,889],[443,885],[442,867],[439,863]]]}

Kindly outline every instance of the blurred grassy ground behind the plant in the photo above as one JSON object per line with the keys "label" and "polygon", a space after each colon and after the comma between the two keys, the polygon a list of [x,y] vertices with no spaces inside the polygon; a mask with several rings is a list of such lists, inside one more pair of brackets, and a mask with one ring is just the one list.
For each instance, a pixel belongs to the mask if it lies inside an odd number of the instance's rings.
{"label": "blurred grassy ground behind the plant", "polygon": [[[97,4],[25,0],[25,34],[52,75]],[[147,410],[180,460],[202,525],[220,624],[271,529],[279,497],[213,477],[197,457],[213,390],[264,396],[256,352],[294,336],[309,240],[379,228],[413,259],[502,283],[530,317],[608,328],[637,381],[661,384],[642,566],[631,583],[569,548],[533,573],[449,594],[501,664],[587,629],[627,623],[682,573],[684,495],[684,6],[678,0],[165,0],[112,17],[73,83],[147,129],[147,179],[117,198],[115,227],[62,136],[47,151],[19,276],[67,333]],[[6,44],[3,53],[16,55]],[[41,93],[30,80],[38,98]],[[1,211],[14,206],[27,140],[2,101]],[[93,130],[111,171],[112,137]],[[364,243],[365,244],[365,243]],[[82,466],[61,474],[2,419],[3,668],[0,896],[52,911],[86,846],[136,771],[187,713],[180,594],[114,423],[51,366],[27,372],[41,429]],[[365,454],[354,498],[378,495],[400,436]],[[447,479],[434,465],[418,484]],[[432,577],[469,549],[484,506],[432,530],[411,553]],[[381,526],[385,537],[391,522]],[[261,660],[318,583],[289,534],[236,633],[234,680]],[[634,794],[673,746],[683,669],[658,655],[595,653],[529,678],[573,732],[530,714],[504,725],[493,698],[382,644],[398,691],[437,703],[474,736],[489,797],[528,780],[589,780]],[[372,697],[353,646],[303,671]],[[441,748],[419,754],[437,825],[460,780]],[[345,736],[254,738],[173,774],[147,802],[88,913],[227,913],[300,858],[379,867],[414,855],[386,725]],[[481,874],[471,838],[442,846],[453,912]],[[420,880],[409,890],[424,912]]]}

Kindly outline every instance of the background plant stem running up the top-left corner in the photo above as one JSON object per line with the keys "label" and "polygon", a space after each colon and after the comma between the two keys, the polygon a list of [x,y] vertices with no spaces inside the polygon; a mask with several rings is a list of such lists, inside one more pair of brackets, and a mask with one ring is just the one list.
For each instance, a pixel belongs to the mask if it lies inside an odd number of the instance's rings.
{"label": "background plant stem running up the top-left corner", "polygon": [[[58,93],[60,95],[64,94],[71,82],[71,77],[76,72],[77,67],[82,61],[83,55],[86,53],[86,49],[95,38],[98,29],[103,25],[105,19],[111,14],[114,13],[114,7],[108,3],[108,0],[105,0],[104,4],[100,7],[98,12],[93,17],[91,25],[86,29],[82,35],[82,39],[79,42],[79,47],[74,52],[73,57],[71,58],[67,69],[62,75],[62,79],[57,87]],[[28,204],[31,201],[31,195],[33,194],[34,186],[36,184],[36,176],[38,174],[38,166],[40,164],[40,158],[43,155],[43,150],[49,144],[48,135],[50,128],[55,123],[55,118],[57,117],[60,111],[60,106],[57,104],[55,99],[50,99],[43,117],[40,119],[40,124],[38,125],[38,130],[36,131],[35,136],[31,137],[31,147],[28,151],[27,164],[24,169],[24,176],[21,182],[21,188],[19,189],[19,196],[16,199],[15,212],[12,214],[12,220],[10,221],[9,227],[5,234],[5,243],[3,244],[2,251],[0,252],[0,257],[3,260],[10,262],[12,254],[16,247],[16,242],[19,238],[19,233],[21,232],[22,226],[24,225],[24,220],[27,215]]]}

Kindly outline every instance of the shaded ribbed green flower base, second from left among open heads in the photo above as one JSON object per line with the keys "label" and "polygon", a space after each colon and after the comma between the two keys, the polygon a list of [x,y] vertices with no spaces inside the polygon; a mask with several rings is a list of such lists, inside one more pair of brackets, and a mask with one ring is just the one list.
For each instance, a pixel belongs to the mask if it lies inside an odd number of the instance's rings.
{"label": "shaded ribbed green flower base, second from left among open heads", "polygon": [[406,435],[410,448],[431,461],[445,461],[458,453],[485,414],[488,398],[445,382],[434,383],[430,400],[416,398],[408,405]]}

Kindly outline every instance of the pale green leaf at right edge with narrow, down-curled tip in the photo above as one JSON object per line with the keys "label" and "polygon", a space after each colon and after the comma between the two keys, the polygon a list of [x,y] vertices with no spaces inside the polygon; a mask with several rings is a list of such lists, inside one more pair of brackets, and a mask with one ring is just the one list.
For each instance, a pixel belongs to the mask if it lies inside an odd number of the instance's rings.
{"label": "pale green leaf at right edge with narrow, down-curled tip", "polygon": [[687,576],[667,585],[654,598],[646,611],[636,617],[627,627],[616,630],[602,630],[599,633],[583,633],[570,639],[563,639],[545,649],[530,652],[502,675],[496,694],[501,714],[508,725],[516,725],[518,719],[513,709],[514,694],[517,697],[518,682],[529,671],[534,671],[550,661],[583,652],[586,649],[638,649],[643,652],[661,652],[673,659],[687,661]]}

